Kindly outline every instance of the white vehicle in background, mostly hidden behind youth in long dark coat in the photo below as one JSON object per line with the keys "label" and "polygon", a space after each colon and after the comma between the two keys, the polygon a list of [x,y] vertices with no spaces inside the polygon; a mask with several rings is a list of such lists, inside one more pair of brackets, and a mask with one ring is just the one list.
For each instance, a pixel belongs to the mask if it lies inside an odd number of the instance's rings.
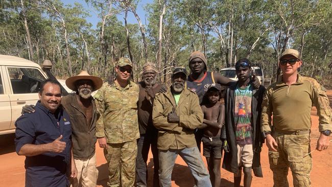
{"label": "white vehicle in background, mostly hidden behind youth in long dark coat", "polygon": [[[262,68],[258,65],[253,65],[251,67],[251,72],[252,72],[252,74],[256,75],[260,84],[264,85],[264,73],[263,73]],[[236,76],[236,73],[235,73],[235,66],[222,68],[220,70],[220,74],[225,77],[228,77],[234,81],[238,80],[238,77]]]}

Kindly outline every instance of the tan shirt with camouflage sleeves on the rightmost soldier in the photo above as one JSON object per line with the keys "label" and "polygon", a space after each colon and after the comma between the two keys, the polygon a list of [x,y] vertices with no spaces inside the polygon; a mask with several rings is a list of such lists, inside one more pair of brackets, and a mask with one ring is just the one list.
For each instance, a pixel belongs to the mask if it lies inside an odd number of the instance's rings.
{"label": "tan shirt with camouflage sleeves on the rightmost soldier", "polygon": [[312,106],[317,108],[319,131],[332,130],[331,109],[325,88],[315,79],[299,74],[292,85],[283,83],[280,78],[265,92],[262,103],[262,131],[271,131],[272,124],[281,131],[308,130],[311,128]]}

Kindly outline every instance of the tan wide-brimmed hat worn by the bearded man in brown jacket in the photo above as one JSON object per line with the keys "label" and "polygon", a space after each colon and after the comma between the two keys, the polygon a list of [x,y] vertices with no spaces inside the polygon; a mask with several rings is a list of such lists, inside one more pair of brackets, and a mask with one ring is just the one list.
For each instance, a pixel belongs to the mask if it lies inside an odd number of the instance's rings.
{"label": "tan wide-brimmed hat worn by the bearded man in brown jacket", "polygon": [[69,77],[66,80],[66,86],[72,90],[76,90],[75,82],[78,80],[83,80],[83,79],[91,80],[93,82],[92,91],[98,90],[103,85],[103,80],[101,78],[99,78],[97,76],[89,75],[86,71],[82,71],[77,76]]}

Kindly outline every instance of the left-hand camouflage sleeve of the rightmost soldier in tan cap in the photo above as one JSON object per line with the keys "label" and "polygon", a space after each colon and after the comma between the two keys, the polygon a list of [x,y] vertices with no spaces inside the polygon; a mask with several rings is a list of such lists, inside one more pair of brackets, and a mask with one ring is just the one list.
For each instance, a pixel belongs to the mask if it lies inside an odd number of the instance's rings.
{"label": "left-hand camouflage sleeve of the rightmost soldier in tan cap", "polygon": [[272,103],[271,103],[271,89],[265,90],[262,102],[262,115],[260,116],[260,128],[262,132],[271,131],[271,116],[272,116]]}

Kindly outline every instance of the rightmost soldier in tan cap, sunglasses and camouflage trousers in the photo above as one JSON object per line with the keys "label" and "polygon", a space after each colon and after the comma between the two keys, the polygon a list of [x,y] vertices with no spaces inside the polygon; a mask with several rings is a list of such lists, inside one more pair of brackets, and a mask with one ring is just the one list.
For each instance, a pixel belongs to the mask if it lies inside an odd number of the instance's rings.
{"label": "rightmost soldier in tan cap, sunglasses and camouflage trousers", "polygon": [[311,186],[312,157],[307,155],[311,150],[311,108],[315,105],[319,115],[321,134],[316,149],[326,150],[332,130],[329,101],[323,86],[297,73],[302,65],[298,51],[288,49],[279,60],[282,76],[265,92],[261,121],[274,186],[289,186],[288,168],[291,168],[294,186]]}

